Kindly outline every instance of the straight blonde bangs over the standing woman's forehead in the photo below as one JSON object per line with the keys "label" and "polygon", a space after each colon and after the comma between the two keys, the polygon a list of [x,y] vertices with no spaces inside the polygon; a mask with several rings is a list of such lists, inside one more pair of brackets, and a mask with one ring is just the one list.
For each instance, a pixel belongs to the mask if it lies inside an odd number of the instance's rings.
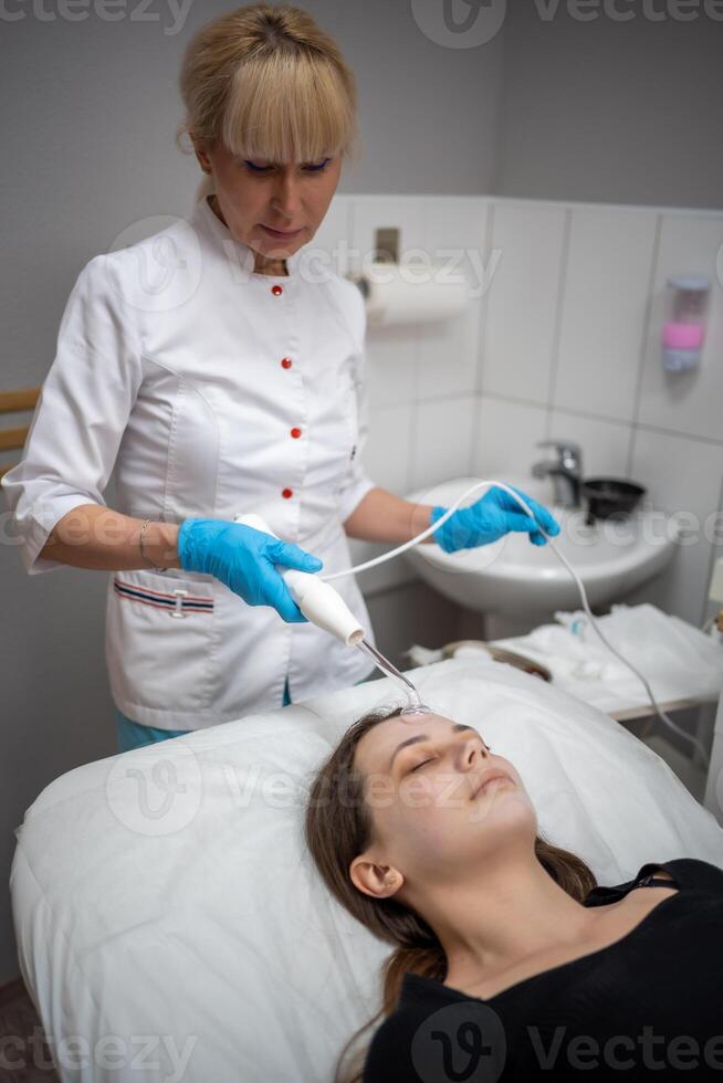
{"label": "straight blonde bangs over the standing woman's forehead", "polygon": [[234,73],[221,135],[243,158],[280,165],[349,154],[354,87],[316,54],[256,55]]}

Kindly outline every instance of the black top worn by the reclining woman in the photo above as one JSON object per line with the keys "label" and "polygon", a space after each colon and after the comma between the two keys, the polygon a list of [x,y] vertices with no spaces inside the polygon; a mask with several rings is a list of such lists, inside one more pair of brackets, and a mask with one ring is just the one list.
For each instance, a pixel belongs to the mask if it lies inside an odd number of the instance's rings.
{"label": "black top worn by the reclining woman", "polygon": [[488,1000],[406,974],[369,1047],[364,1083],[717,1080],[723,1083],[723,870],[648,862],[585,906],[664,869],[678,887],[619,940]]}

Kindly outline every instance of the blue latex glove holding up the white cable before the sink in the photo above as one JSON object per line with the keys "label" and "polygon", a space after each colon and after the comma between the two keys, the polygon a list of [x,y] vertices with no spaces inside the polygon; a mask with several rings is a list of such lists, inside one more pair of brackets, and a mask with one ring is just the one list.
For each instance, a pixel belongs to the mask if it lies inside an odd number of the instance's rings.
{"label": "blue latex glove holding up the white cable before the sink", "polygon": [[[457,512],[450,515],[447,523],[442,523],[439,530],[434,530],[432,537],[446,553],[454,553],[457,549],[471,549],[478,545],[489,545],[510,530],[527,530],[533,545],[545,545],[547,542],[545,535],[539,530],[541,526],[552,536],[559,534],[559,524],[546,507],[537,504],[536,501],[533,501],[522,490],[515,488],[514,485],[511,485],[510,488],[520,494],[535,516],[534,519],[525,515],[509,493],[495,485],[489,488],[474,504],[470,504],[469,507],[459,507]],[[433,507],[430,524],[436,523],[446,511],[444,507]]]}

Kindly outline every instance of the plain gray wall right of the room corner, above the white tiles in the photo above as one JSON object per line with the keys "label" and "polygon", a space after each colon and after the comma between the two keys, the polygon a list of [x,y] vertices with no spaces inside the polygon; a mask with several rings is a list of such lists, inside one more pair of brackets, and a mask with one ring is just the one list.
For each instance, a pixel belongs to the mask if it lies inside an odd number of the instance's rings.
{"label": "plain gray wall right of the room corner, above the white tiles", "polygon": [[635,2],[614,6],[627,22],[507,7],[497,193],[721,207],[723,22],[650,21]]}

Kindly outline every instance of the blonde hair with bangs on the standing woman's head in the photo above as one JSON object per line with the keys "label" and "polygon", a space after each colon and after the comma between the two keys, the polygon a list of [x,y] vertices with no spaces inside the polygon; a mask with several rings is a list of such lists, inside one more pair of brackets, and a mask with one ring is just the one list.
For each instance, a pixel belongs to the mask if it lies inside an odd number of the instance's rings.
{"label": "blonde hair with bangs on the standing woman's head", "polygon": [[[353,157],[358,138],[356,83],[336,42],[301,8],[238,8],[191,38],[179,87],[186,117],[176,132],[262,161]],[[213,191],[207,174],[196,192]]]}

